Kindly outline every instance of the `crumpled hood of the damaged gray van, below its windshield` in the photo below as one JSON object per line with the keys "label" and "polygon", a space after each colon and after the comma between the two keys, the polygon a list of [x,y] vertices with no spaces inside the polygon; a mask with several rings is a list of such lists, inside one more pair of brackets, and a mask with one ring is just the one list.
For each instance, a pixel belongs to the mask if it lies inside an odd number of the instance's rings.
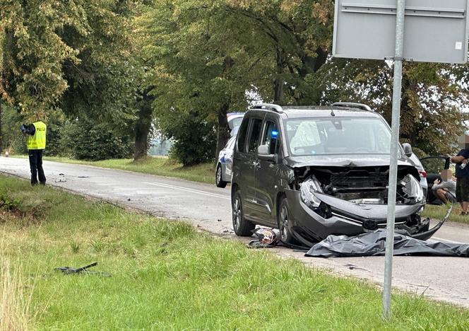
{"label": "crumpled hood of the damaged gray van, below its windshield", "polygon": [[[314,156],[289,156],[285,158],[286,164],[291,168],[307,166],[326,167],[374,167],[389,166],[389,155],[314,155]],[[405,156],[398,159],[398,165],[414,166]]]}

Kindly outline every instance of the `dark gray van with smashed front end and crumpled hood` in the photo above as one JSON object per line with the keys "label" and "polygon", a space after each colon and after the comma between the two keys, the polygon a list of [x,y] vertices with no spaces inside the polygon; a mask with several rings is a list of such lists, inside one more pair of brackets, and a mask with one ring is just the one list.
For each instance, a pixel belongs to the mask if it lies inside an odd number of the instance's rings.
{"label": "dark gray van with smashed front end and crumpled hood", "polygon": [[[285,243],[386,228],[391,129],[367,105],[260,104],[242,121],[233,153],[232,221],[238,236],[256,224],[280,229]],[[400,148],[396,233],[426,240],[420,175]]]}

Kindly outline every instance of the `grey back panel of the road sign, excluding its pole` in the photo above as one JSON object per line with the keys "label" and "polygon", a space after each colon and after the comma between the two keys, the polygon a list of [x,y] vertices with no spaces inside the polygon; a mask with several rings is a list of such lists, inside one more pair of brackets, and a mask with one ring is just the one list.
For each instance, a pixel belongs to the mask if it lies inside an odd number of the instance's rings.
{"label": "grey back panel of the road sign, excluding its pole", "polygon": [[[404,59],[467,62],[468,4],[468,0],[406,0]],[[396,0],[337,0],[333,56],[393,58],[396,13]]]}

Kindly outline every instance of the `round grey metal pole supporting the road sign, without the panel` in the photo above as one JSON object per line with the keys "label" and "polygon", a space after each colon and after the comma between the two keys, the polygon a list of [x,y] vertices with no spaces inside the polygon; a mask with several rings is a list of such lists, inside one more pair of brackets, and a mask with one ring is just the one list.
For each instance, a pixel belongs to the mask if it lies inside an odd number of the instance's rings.
{"label": "round grey metal pole supporting the road sign, without the panel", "polygon": [[391,317],[391,280],[393,277],[394,215],[398,181],[398,144],[400,120],[400,93],[402,90],[402,62],[404,47],[405,0],[397,0],[396,52],[394,57],[393,115],[391,123],[391,159],[389,163],[388,219],[386,222],[386,253],[384,262],[383,314]]}

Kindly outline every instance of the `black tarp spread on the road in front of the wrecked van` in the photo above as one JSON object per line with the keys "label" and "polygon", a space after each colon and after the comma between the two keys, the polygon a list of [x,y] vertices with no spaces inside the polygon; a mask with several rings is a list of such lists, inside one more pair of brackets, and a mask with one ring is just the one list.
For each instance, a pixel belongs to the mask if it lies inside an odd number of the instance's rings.
{"label": "black tarp spread on the road in front of the wrecked van", "polygon": [[[305,254],[308,257],[360,257],[384,255],[386,231],[360,236],[328,236]],[[468,244],[427,242],[394,235],[394,255],[469,257]]]}

